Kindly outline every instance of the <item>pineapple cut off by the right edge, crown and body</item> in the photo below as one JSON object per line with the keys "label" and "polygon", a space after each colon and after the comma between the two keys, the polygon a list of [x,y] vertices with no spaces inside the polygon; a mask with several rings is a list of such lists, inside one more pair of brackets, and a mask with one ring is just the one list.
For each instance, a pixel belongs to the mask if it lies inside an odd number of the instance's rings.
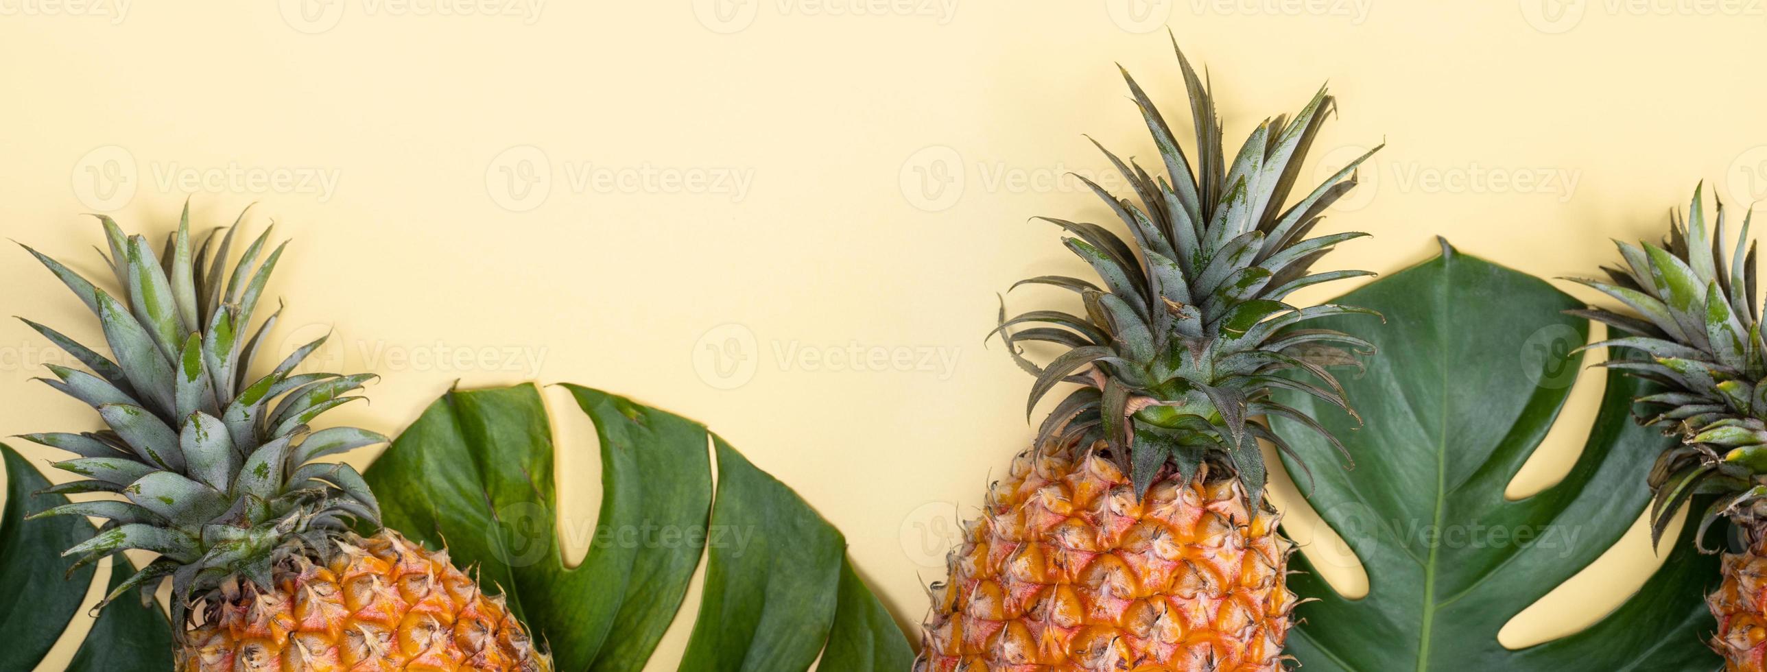
{"label": "pineapple cut off by the right edge, crown and body", "polygon": [[1654,409],[1640,421],[1680,437],[1647,479],[1652,539],[1695,495],[1718,495],[1700,516],[1695,543],[1702,552],[1716,552],[1703,538],[1718,518],[1735,525],[1739,543],[1721,559],[1723,582],[1707,598],[1718,617],[1710,645],[1730,670],[1767,670],[1767,340],[1755,302],[1755,246],[1744,253],[1744,216],[1726,255],[1725,203],[1707,223],[1700,191],[1686,221],[1670,214],[1661,244],[1617,241],[1626,263],[1603,269],[1610,281],[1574,279],[1617,299],[1624,311],[1573,313],[1624,332],[1589,347],[1629,348],[1629,357],[1606,366],[1656,384],[1638,398]]}

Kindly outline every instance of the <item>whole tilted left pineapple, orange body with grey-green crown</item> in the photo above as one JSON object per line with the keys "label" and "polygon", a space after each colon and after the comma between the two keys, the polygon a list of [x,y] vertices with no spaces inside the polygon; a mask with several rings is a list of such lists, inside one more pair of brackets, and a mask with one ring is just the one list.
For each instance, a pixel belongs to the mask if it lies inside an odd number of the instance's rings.
{"label": "whole tilted left pineapple, orange body with grey-green crown", "polygon": [[[355,469],[315,462],[387,440],[357,428],[307,430],[360,398],[350,393],[371,375],[293,373],[322,338],[253,377],[276,315],[242,336],[286,242],[256,263],[265,230],[228,265],[240,225],[219,246],[210,233],[193,248],[186,205],[157,258],[145,237],[99,219],[117,294],[25,248],[97,313],[113,354],[25,320],[90,368],[51,364],[44,382],[108,424],[25,439],[76,454],[55,467],[85,479],[49,490],[120,495],[35,516],[106,520],[64,554],[78,557],[76,568],[127,548],[159,554],[99,607],[129,589],[152,599],[170,578],[175,660],[186,672],[550,670],[500,596],[449,564],[445,550],[380,529],[375,493]],[[115,562],[127,566],[120,555]]]}

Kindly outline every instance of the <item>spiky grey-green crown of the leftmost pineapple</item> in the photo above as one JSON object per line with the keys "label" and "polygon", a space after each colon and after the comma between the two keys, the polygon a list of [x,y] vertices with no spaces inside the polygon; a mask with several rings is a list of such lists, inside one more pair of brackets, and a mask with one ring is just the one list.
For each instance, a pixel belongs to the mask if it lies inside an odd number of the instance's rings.
{"label": "spiky grey-green crown of the leftmost pineapple", "polygon": [[108,430],[25,439],[76,454],[55,467],[85,479],[48,492],[122,495],[34,515],[106,518],[95,536],[62,554],[78,557],[69,571],[127,548],[159,554],[101,607],[134,587],[148,599],[171,577],[173,614],[182,621],[193,594],[216,591],[235,575],[269,587],[279,561],[302,552],[325,557],[353,520],[378,523],[380,504],[362,476],[350,465],[315,460],[387,439],[357,428],[307,431],[322,412],[360,398],[348,393],[371,375],[293,373],[325,338],[297,348],[263,377],[249,375],[276,313],[249,340],[240,336],[286,242],[256,263],[267,228],[230,267],[228,251],[246,214],[219,235],[219,246],[216,230],[193,248],[186,203],[161,260],[145,237],[124,235],[111,218],[97,218],[110,241],[110,255],[99,255],[117,276],[117,294],[25,249],[99,317],[115,359],[37,322],[25,324],[90,368],[48,364],[55,377],[42,382],[97,409]]}

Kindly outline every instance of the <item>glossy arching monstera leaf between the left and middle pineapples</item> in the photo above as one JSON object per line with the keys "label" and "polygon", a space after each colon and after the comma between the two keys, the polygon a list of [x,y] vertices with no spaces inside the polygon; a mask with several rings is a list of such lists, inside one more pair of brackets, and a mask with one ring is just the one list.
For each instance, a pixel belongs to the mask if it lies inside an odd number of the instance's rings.
{"label": "glossy arching monstera leaf between the left and middle pineapples", "polygon": [[581,564],[565,566],[551,428],[530,384],[452,391],[399,435],[364,474],[385,525],[445,543],[504,587],[558,670],[643,668],[701,550],[682,670],[808,670],[818,656],[822,670],[912,665],[841,532],[797,493],[694,421],[565,387],[601,439],[601,515]]}

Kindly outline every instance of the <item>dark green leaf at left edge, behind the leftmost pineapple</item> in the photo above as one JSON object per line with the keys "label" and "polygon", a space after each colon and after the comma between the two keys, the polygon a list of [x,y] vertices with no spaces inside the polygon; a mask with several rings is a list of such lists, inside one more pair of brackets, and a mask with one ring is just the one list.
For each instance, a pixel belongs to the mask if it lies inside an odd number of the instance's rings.
{"label": "dark green leaf at left edge, behind the leftmost pineapple", "polygon": [[[67,630],[87,598],[95,569],[72,575],[74,559],[62,548],[92,536],[92,523],[80,516],[25,520],[30,513],[67,504],[67,497],[39,493],[49,481],[12,447],[0,444],[5,458],[5,515],[0,516],[0,622],[7,645],[0,647],[0,670],[30,670]],[[111,571],[115,589],[129,571]],[[67,670],[74,672],[164,672],[171,668],[171,624],[159,605],[141,605],[133,596],[117,599],[92,624]]]}

